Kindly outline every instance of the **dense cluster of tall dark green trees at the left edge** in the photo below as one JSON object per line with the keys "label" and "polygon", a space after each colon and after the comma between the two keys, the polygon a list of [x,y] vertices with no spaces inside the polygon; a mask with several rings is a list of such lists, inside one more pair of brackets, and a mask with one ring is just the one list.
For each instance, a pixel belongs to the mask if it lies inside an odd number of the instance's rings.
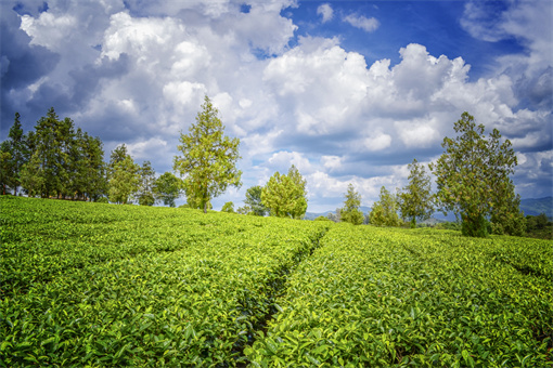
{"label": "dense cluster of tall dark green trees at the left edge", "polygon": [[21,186],[30,196],[80,200],[95,200],[105,193],[100,139],[75,131],[73,120],[61,120],[53,107],[27,134],[20,118],[16,113],[10,140],[1,144],[3,192],[10,188],[16,195]]}

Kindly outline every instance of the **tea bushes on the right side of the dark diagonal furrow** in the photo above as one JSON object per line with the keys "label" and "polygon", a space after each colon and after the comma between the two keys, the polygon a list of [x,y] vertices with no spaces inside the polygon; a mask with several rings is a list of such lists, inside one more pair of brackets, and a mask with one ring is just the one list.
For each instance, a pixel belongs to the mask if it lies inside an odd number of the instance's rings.
{"label": "tea bushes on the right side of the dark diagonal furrow", "polygon": [[551,367],[551,242],[336,224],[244,353],[254,367]]}

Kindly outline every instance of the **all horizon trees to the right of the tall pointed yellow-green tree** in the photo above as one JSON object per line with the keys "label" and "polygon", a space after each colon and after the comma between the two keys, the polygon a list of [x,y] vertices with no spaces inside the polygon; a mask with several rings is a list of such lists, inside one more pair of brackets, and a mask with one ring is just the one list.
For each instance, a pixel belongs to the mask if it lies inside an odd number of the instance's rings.
{"label": "all horizon trees to the right of the tall pointed yellow-green tree", "polygon": [[[514,184],[510,178],[517,165],[511,142],[501,140],[497,129],[486,137],[485,127],[477,126],[468,113],[463,113],[453,128],[458,136],[443,139],[441,144],[445,148],[443,154],[428,167],[436,176],[436,193],[432,193],[432,181],[425,167],[414,159],[409,165],[408,185],[398,188],[396,194],[383,186],[378,200],[366,215],[359,210],[361,195],[355,190],[352,184],[349,184],[344,207],[337,209],[336,213],[329,214],[329,220],[356,225],[370,223],[376,226],[402,226],[409,221],[411,227],[415,227],[417,220],[427,220],[434,211],[439,210],[446,215],[453,212],[461,221],[461,232],[466,236],[525,235],[532,221],[526,219],[520,211],[520,197],[515,195]],[[249,211],[248,208],[253,209],[260,205],[267,207],[273,215],[303,218],[305,214],[303,207],[299,214],[279,210],[283,206],[282,198],[287,196],[286,193],[292,193],[300,186],[294,185],[293,180],[281,180],[279,173],[275,175],[266,187],[255,190],[250,188],[252,192],[248,190],[246,194],[246,207],[239,209],[239,212],[258,214],[258,211]],[[297,176],[299,173],[294,175]],[[275,179],[279,180],[279,185],[272,189]],[[271,201],[272,193],[279,198],[280,207]],[[252,203],[254,194],[257,194],[255,206]],[[271,196],[268,197],[268,194]],[[307,208],[306,195],[304,193],[299,196],[301,200],[305,199],[305,208]],[[285,202],[291,208],[295,206],[294,199]],[[232,211],[233,206],[228,202],[223,209]]]}

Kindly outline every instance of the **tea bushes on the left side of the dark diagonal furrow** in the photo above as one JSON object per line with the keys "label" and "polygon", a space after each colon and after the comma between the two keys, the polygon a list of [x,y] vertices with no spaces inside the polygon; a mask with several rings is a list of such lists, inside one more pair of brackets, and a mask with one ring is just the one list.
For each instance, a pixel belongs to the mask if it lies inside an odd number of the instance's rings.
{"label": "tea bushes on the left side of the dark diagonal furrow", "polygon": [[326,224],[0,197],[2,365],[244,366]]}

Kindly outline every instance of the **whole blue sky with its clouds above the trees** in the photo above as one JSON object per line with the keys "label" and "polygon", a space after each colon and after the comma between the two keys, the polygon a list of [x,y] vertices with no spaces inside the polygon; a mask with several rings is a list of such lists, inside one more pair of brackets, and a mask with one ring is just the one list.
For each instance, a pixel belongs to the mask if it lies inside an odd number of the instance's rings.
{"label": "whole blue sky with its clouds above the trees", "polygon": [[468,111],[509,139],[523,198],[553,190],[553,2],[0,1],[0,141],[54,107],[105,160],[172,170],[204,96],[240,139],[240,189],[295,165],[308,211],[407,185]]}

